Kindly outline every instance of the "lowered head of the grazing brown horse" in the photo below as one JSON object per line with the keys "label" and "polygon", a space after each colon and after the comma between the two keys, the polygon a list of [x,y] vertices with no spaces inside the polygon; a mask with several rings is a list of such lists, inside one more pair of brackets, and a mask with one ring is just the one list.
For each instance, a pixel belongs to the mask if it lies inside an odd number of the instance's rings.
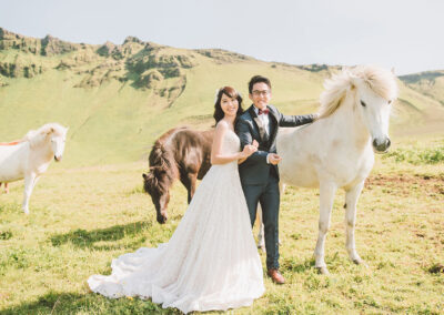
{"label": "lowered head of the grazing brown horse", "polygon": [[160,224],[167,222],[167,207],[170,202],[170,179],[163,166],[152,166],[143,176],[143,189],[151,195],[155,206],[157,220]]}

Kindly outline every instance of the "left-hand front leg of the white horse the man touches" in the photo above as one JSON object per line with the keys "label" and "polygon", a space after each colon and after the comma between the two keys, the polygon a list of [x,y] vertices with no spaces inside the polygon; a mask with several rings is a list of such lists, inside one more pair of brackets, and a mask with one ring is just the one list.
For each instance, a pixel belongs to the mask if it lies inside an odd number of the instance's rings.
{"label": "left-hand front leg of the white horse the man touches", "polygon": [[330,217],[332,214],[334,193],[336,185],[334,183],[321,183],[320,186],[320,221],[316,248],[314,250],[315,267],[322,274],[329,274],[324,260],[325,236],[330,228]]}

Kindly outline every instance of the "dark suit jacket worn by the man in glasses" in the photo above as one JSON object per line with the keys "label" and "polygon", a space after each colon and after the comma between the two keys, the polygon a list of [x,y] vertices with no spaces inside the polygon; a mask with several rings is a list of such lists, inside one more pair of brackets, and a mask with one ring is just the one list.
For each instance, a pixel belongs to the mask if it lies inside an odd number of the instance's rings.
{"label": "dark suit jacket worn by the man in glasses", "polygon": [[270,167],[274,167],[279,179],[276,165],[266,163],[269,153],[276,153],[276,135],[279,126],[297,126],[313,122],[313,115],[283,115],[273,105],[268,105],[270,110],[270,136],[266,139],[265,129],[258,118],[254,105],[251,105],[236,122],[236,133],[241,140],[241,149],[246,144],[252,144],[253,140],[259,142],[259,150],[239,165],[239,174],[242,185],[265,184],[269,180]]}

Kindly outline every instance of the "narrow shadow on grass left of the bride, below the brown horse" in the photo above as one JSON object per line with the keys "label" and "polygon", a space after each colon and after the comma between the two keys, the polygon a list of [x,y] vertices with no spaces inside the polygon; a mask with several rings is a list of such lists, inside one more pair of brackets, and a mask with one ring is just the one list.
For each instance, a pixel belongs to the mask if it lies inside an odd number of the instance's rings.
{"label": "narrow shadow on grass left of the bride, below the brown horse", "polygon": [[[115,247],[120,247],[118,244],[113,245],[97,245],[97,242],[109,242],[109,241],[119,241],[127,236],[132,236],[137,234],[143,234],[142,231],[149,226],[151,226],[151,222],[141,221],[129,223],[125,225],[114,225],[107,228],[98,228],[92,231],[85,231],[78,228],[75,231],[69,232],[67,234],[58,234],[51,236],[52,246],[61,246],[65,243],[71,243],[79,248],[94,248],[108,251]],[[140,240],[139,240],[140,238]],[[137,245],[143,243],[145,238],[139,237],[138,240],[132,240],[131,245]],[[132,243],[137,244],[132,244]]]}

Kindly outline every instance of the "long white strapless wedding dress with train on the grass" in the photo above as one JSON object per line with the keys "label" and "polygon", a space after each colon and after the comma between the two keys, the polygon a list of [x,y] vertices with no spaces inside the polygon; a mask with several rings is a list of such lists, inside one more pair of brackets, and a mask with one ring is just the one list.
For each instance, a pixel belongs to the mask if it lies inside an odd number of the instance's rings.
{"label": "long white strapless wedding dress with train on the grass", "polygon": [[[234,132],[225,133],[222,150],[239,152]],[[251,305],[264,293],[263,272],[238,162],[210,169],[168,243],[124,254],[111,267],[111,275],[88,280],[93,292],[151,297],[184,313]]]}

